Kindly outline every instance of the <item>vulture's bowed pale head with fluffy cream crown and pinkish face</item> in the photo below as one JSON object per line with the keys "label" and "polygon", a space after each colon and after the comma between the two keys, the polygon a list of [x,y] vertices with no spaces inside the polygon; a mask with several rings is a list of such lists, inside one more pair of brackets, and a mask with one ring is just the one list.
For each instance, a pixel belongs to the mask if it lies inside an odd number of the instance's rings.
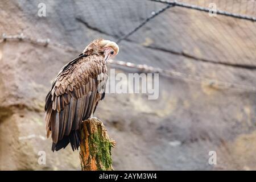
{"label": "vulture's bowed pale head with fluffy cream crown and pinkish face", "polygon": [[84,49],[84,54],[91,55],[93,53],[103,54],[104,60],[108,60],[118,54],[119,47],[115,42],[104,39],[93,40]]}

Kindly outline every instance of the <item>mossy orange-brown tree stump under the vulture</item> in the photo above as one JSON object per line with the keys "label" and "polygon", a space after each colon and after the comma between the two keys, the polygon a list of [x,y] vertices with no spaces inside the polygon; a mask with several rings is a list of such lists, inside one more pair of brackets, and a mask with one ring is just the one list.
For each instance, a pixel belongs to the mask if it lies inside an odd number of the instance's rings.
{"label": "mossy orange-brown tree stump under the vulture", "polygon": [[100,119],[89,118],[82,122],[80,137],[82,171],[113,170],[111,148],[115,142],[109,139]]}

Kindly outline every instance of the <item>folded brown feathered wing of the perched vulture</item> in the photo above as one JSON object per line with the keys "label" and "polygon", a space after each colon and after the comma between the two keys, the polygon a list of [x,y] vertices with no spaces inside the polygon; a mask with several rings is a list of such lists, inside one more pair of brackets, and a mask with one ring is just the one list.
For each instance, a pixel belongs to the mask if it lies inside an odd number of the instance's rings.
{"label": "folded brown feathered wing of the perched vulture", "polygon": [[108,78],[104,57],[80,56],[59,72],[46,96],[46,131],[53,143],[78,130],[82,119],[93,113]]}

